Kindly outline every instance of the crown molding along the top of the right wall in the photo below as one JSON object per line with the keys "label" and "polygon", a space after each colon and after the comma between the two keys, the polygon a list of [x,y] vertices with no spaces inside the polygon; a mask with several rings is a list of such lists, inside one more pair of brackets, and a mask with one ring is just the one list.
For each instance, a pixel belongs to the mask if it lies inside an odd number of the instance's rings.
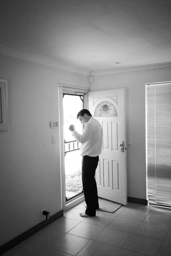
{"label": "crown molding along the top of the right wall", "polygon": [[135,71],[161,69],[161,68],[171,68],[171,62],[158,63],[158,64],[146,65],[146,66],[130,67],[130,68],[121,68],[121,69],[97,70],[97,71],[92,71],[91,75],[100,76],[100,75],[135,72]]}

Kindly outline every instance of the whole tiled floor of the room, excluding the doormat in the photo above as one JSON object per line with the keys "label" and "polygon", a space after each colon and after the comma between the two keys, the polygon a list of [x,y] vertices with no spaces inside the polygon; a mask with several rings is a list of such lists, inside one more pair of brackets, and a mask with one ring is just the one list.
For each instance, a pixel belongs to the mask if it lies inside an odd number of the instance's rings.
{"label": "whole tiled floor of the room, excluding the doormat", "polygon": [[85,202],[3,256],[170,256],[171,209],[128,203],[83,218]]}

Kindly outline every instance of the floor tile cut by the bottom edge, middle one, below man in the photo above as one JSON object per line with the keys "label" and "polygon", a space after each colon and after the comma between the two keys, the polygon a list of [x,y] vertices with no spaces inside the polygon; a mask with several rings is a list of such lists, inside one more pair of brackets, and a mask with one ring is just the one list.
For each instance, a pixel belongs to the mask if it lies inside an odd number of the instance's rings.
{"label": "floor tile cut by the bottom edge, middle one, below man", "polygon": [[115,256],[120,248],[91,241],[77,256]]}

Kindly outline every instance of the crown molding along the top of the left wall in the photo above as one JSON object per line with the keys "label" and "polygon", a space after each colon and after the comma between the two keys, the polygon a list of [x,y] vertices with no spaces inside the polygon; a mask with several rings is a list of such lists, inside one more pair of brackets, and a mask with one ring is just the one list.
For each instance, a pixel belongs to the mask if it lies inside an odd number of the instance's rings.
{"label": "crown molding along the top of the left wall", "polygon": [[48,59],[45,59],[45,58],[42,58],[42,57],[39,57],[39,56],[27,54],[25,52],[16,51],[16,50],[10,49],[10,48],[5,48],[3,46],[0,46],[0,54],[8,55],[10,57],[23,59],[23,60],[27,60],[27,61],[31,61],[31,62],[36,62],[36,63],[42,64],[42,65],[55,67],[55,68],[59,68],[59,69],[64,69],[64,70],[67,70],[67,71],[71,71],[71,72],[91,76],[91,71],[90,70],[84,70],[84,69],[73,67],[73,66],[70,66],[70,65],[65,65],[65,64],[59,63],[57,61],[48,60]]}

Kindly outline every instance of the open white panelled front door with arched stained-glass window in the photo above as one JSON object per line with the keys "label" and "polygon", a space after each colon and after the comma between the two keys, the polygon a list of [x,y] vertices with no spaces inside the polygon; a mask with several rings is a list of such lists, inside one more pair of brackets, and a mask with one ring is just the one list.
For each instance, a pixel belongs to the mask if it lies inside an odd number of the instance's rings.
{"label": "open white panelled front door with arched stained-glass window", "polygon": [[89,111],[103,129],[95,175],[98,196],[127,205],[124,89],[89,92],[88,96]]}

